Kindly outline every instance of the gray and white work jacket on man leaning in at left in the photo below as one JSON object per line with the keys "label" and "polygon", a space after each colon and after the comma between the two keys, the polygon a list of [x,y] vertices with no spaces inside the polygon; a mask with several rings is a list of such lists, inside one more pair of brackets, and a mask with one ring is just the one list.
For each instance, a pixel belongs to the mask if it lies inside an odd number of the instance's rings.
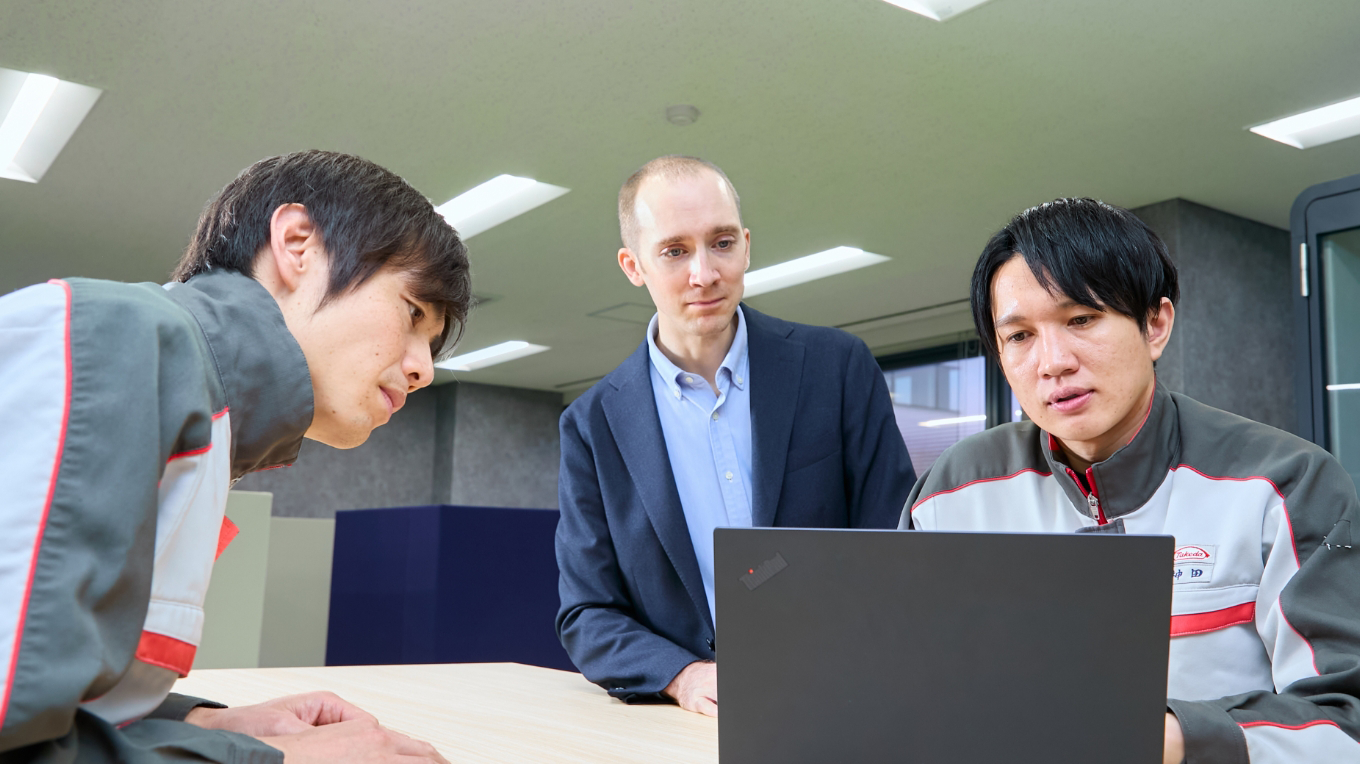
{"label": "gray and white work jacket on man leaning in at left", "polygon": [[0,299],[0,757],[282,761],[166,719],[223,511],[291,464],[306,360],[254,280],[49,281]]}

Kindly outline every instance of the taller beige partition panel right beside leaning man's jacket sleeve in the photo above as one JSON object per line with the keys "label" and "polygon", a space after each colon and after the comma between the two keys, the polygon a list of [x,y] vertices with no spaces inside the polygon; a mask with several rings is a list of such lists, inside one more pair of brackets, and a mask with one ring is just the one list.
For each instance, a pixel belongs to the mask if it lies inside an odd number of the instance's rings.
{"label": "taller beige partition panel right beside leaning man's jacket sleeve", "polygon": [[227,517],[241,533],[212,568],[194,669],[260,665],[272,503],[269,493],[231,491],[227,495]]}

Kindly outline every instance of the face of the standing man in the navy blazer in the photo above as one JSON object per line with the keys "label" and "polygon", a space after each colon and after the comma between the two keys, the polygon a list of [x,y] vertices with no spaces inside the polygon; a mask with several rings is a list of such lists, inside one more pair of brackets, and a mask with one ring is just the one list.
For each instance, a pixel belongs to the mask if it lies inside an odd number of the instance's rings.
{"label": "face of the standing man in the navy blazer", "polygon": [[638,231],[619,250],[634,285],[646,284],[662,330],[687,337],[722,334],[736,314],[751,264],[751,232],[717,174],[651,178],[638,190]]}

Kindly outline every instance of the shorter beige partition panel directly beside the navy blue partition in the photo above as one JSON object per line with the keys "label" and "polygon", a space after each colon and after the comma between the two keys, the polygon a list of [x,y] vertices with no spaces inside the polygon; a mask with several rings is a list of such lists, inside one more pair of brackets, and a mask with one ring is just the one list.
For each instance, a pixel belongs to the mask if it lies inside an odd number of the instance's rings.
{"label": "shorter beige partition panel directly beside the navy blue partition", "polygon": [[324,666],[336,521],[273,518],[261,666]]}

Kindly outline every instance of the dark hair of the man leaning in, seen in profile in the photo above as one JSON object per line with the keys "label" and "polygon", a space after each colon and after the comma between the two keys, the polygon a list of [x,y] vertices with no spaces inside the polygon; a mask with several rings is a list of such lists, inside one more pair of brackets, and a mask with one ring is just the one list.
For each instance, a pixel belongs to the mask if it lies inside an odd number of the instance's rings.
{"label": "dark hair of the man leaning in, seen in profile", "polygon": [[409,184],[348,154],[301,151],[242,170],[203,209],[171,279],[188,281],[211,268],[253,276],[273,211],[284,204],[306,208],[329,256],[321,305],[393,266],[405,273],[412,296],[445,319],[434,358],[453,349],[472,300],[468,247]]}

